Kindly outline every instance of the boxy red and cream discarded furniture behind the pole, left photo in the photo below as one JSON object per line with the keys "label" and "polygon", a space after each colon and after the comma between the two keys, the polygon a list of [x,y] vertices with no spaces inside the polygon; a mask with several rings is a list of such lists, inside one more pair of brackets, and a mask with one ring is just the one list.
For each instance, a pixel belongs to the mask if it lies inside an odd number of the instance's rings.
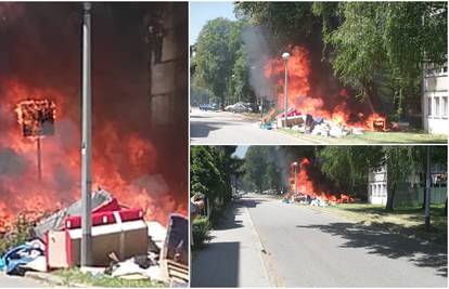
{"label": "boxy red and cream discarded furniture behind the pole, left photo", "polygon": [[[81,216],[65,220],[62,231],[46,234],[46,257],[51,268],[72,267],[80,264]],[[100,211],[92,213],[92,265],[107,266],[108,254],[115,252],[119,260],[146,254],[147,226],[141,209]]]}

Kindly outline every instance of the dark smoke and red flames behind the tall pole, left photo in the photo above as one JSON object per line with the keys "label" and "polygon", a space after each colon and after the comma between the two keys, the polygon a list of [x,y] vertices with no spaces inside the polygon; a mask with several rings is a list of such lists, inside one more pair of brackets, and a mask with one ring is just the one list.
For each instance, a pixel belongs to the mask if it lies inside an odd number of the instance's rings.
{"label": "dark smoke and red flames behind the tall pole, left photo", "polygon": [[[76,2],[0,3],[0,176],[20,175],[0,179],[0,203],[7,198],[18,200],[15,192],[36,192],[50,200],[47,206],[51,200],[67,205],[79,196],[81,6]],[[169,212],[187,212],[188,127],[176,122],[185,119],[187,105],[169,103],[176,115],[167,113],[168,126],[159,133],[149,95],[151,53],[145,25],[162,17],[176,18],[187,27],[185,6],[142,2],[93,3],[92,8],[93,183],[125,202],[151,202],[161,222]],[[166,47],[170,52],[187,55],[187,42],[181,42],[175,35],[164,44],[171,45]],[[184,75],[170,89],[187,103]],[[28,97],[56,103],[55,135],[41,142],[41,184],[36,184],[36,146],[22,137],[14,114],[17,101]],[[18,207],[23,206],[17,201]]]}

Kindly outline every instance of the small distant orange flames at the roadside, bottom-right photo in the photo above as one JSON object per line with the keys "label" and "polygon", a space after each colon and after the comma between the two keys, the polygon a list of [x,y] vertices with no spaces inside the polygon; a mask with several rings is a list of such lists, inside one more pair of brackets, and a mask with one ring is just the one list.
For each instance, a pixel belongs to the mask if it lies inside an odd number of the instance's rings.
{"label": "small distant orange flames at the roadside, bottom-right photo", "polygon": [[[319,189],[315,183],[315,180],[312,180],[309,176],[309,170],[310,170],[311,162],[308,158],[302,159],[298,163],[299,166],[297,167],[297,173],[296,173],[296,186],[297,186],[298,194],[307,195],[311,198],[326,200],[333,203],[354,201],[352,197],[350,197],[349,195],[346,195],[343,193],[331,194],[330,192]],[[294,194],[295,193],[295,168],[293,163],[291,166],[290,183],[291,183],[291,194]]]}

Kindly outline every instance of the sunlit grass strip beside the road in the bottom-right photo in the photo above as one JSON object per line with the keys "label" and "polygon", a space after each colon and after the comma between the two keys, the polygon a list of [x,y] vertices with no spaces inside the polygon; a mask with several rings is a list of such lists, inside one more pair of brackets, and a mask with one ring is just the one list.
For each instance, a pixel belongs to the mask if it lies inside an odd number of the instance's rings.
{"label": "sunlit grass strip beside the road in the bottom-right photo", "polygon": [[368,203],[339,203],[324,208],[313,209],[325,211],[341,218],[360,222],[364,225],[379,226],[384,229],[415,236],[435,244],[447,244],[448,218],[445,215],[445,205],[431,206],[429,232],[424,226],[424,210],[421,207],[395,208],[393,212],[386,211],[385,206]]}

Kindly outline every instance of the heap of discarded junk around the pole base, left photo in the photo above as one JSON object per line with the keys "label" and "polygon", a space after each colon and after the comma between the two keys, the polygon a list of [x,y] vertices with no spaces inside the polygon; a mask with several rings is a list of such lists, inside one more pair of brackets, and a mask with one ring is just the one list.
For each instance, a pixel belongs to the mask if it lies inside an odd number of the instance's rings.
{"label": "heap of discarded junk around the pole base, left photo", "polygon": [[[189,285],[189,221],[169,215],[167,227],[144,220],[104,189],[92,194],[91,273],[125,279],[151,279],[170,287]],[[80,265],[81,201],[39,221],[33,238],[1,255],[0,271],[24,276]],[[86,268],[89,271],[90,267]]]}

